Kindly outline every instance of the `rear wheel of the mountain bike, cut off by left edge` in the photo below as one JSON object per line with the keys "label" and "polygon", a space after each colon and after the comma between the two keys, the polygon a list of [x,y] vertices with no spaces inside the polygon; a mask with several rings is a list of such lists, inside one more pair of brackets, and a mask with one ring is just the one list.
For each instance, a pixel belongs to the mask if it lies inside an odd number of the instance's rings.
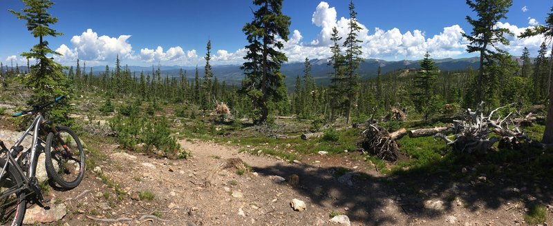
{"label": "rear wheel of the mountain bike, cut off by left edge", "polygon": [[[0,159],[0,172],[5,164],[6,159]],[[10,190],[19,188],[23,185],[21,181],[21,176],[15,172],[15,168],[8,164],[6,172],[0,178],[0,195],[9,194]],[[0,199],[0,223],[2,225],[21,225],[26,208],[25,196],[25,190],[21,190]]]}

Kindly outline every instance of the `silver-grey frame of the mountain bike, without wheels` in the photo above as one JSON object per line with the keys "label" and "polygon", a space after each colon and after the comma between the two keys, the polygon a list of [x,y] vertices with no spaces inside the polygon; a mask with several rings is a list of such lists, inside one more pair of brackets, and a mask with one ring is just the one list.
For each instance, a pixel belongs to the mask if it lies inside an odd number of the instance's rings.
{"label": "silver-grey frame of the mountain bike, without wheels", "polygon": [[[19,139],[17,139],[17,142],[15,143],[15,145],[13,145],[10,150],[6,153],[6,157],[8,158],[8,161],[6,161],[6,164],[3,165],[2,167],[2,170],[1,170],[1,173],[0,173],[0,178],[2,178],[2,176],[6,173],[6,169],[8,168],[8,164],[11,164],[13,168],[15,168],[16,172],[19,174],[19,176],[21,176],[21,179],[23,180],[23,186],[20,186],[19,188],[13,190],[13,191],[6,191],[6,192],[2,192],[1,196],[0,196],[0,199],[1,198],[6,198],[7,196],[9,196],[10,194],[13,194],[15,192],[19,192],[20,190],[22,189],[27,189],[28,188],[28,184],[29,184],[29,181],[30,181],[30,178],[34,177],[35,176],[35,170],[37,169],[37,161],[35,161],[35,159],[38,158],[38,154],[39,153],[39,131],[40,131],[40,127],[42,125],[42,121],[44,120],[44,116],[42,116],[41,112],[37,112],[37,116],[35,117],[35,120],[32,121],[31,125],[27,128],[27,130],[21,134],[21,136],[19,137]],[[23,154],[20,154],[17,158],[13,158],[12,157],[12,152],[14,152],[14,147],[18,147],[19,145],[21,145],[21,143],[23,143],[24,139],[26,138],[27,135],[30,135],[30,131],[33,130],[33,133],[32,133],[32,148],[30,150],[30,164],[29,164],[29,167],[27,169],[27,174],[25,174],[23,172],[23,170],[21,170],[21,167],[19,166],[19,164],[17,163],[17,160],[19,158],[21,158],[21,156],[23,156]],[[25,153],[27,151],[21,151],[21,153]],[[13,169],[12,169],[13,170]]]}

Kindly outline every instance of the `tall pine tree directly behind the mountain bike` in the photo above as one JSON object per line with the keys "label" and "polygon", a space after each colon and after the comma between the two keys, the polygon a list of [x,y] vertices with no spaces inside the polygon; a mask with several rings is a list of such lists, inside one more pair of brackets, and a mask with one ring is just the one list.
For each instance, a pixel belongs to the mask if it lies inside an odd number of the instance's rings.
{"label": "tall pine tree directly behind the mountain bike", "polygon": [[[64,87],[70,85],[62,72],[62,65],[56,63],[53,59],[46,56],[53,54],[59,56],[58,52],[48,48],[48,41],[44,37],[57,37],[62,33],[50,28],[50,25],[57,23],[57,18],[48,13],[48,9],[53,6],[49,0],[23,0],[26,8],[21,12],[10,10],[18,19],[27,21],[26,26],[35,38],[39,38],[39,43],[34,45],[30,52],[24,52],[21,56],[37,59],[39,63],[32,66],[33,74],[26,76],[26,85],[33,89],[33,94],[28,101],[29,105],[45,103],[52,101],[56,96],[68,94]],[[50,111],[50,119],[57,123],[68,124],[69,105],[67,99]]]}

